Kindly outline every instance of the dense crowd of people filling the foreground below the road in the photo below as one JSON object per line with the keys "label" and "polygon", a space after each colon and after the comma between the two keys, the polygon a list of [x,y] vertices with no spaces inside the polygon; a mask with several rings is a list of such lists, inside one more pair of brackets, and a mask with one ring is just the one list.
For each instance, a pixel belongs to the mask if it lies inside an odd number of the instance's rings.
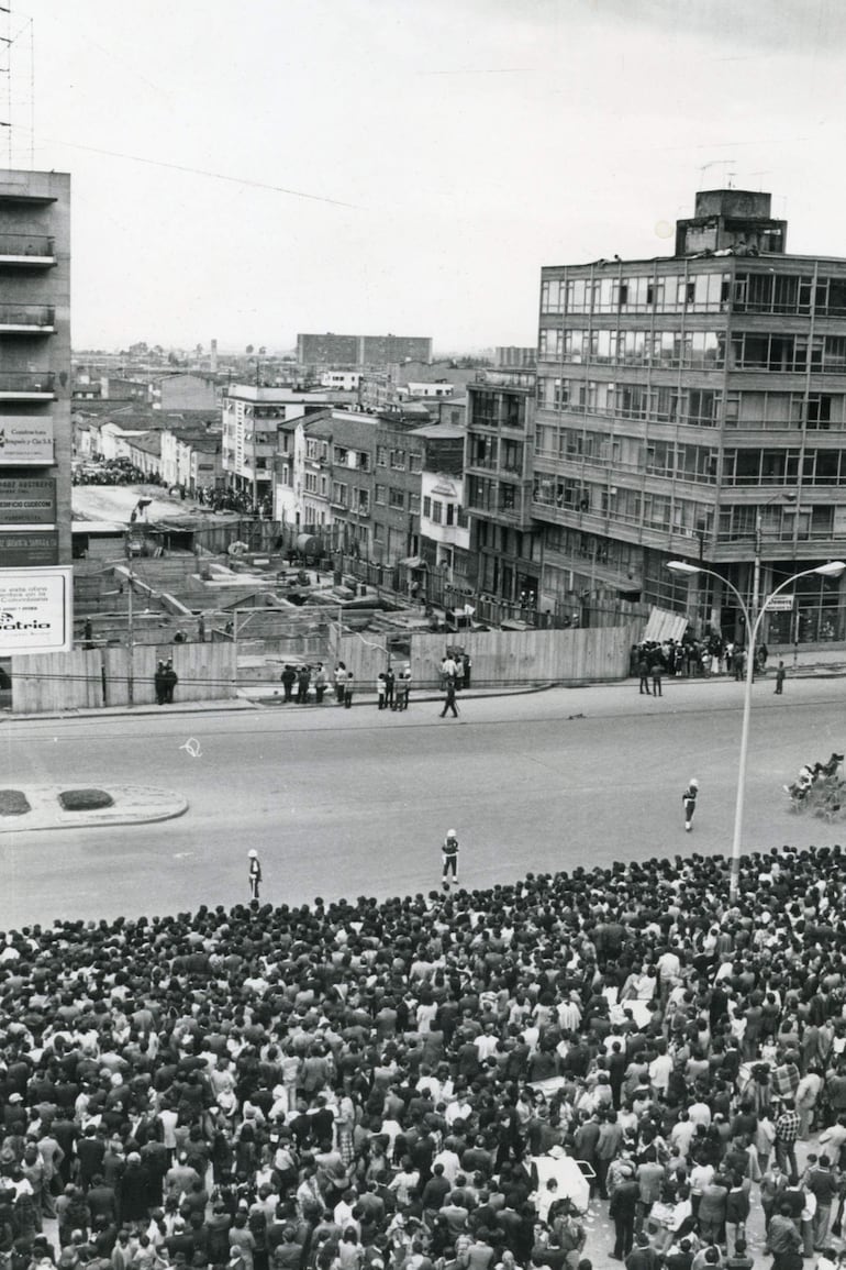
{"label": "dense crowd of people filling the foreground below the road", "polygon": [[0,932],[0,1259],[833,1270],[843,861]]}

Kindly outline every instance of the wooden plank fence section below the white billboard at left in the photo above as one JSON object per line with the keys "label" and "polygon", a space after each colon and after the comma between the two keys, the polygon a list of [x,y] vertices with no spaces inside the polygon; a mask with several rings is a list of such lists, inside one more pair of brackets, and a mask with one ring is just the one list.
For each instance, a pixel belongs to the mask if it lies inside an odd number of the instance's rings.
{"label": "wooden plank fence section below the white billboard at left", "polygon": [[[145,644],[133,648],[133,704],[156,700],[153,674],[171,659],[179,676],[176,701],[222,701],[237,693],[231,643]],[[126,706],[129,701],[129,650],[126,646],[77,649],[11,659],[14,714],[56,714]]]}

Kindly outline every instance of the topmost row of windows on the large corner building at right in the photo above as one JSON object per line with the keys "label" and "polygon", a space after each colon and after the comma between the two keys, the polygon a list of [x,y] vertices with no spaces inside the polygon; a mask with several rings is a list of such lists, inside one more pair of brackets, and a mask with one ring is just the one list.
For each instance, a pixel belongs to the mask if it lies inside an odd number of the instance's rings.
{"label": "topmost row of windows on the large corner building at right", "polygon": [[544,314],[736,312],[842,318],[846,278],[743,272],[623,278],[549,278],[540,284]]}

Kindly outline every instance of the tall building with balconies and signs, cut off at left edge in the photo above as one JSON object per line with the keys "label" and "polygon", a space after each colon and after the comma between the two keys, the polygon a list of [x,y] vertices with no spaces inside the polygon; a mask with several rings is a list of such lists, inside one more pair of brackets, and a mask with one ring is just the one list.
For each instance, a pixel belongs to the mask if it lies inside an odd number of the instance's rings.
{"label": "tall building with balconies and signs, cut off at left edge", "polygon": [[0,277],[1,574],[71,563],[67,174],[0,175]]}

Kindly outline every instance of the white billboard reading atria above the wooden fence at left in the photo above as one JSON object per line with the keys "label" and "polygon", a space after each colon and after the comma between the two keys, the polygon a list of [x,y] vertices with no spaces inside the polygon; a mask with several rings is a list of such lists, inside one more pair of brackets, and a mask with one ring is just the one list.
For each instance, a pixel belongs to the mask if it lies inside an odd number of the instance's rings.
{"label": "white billboard reading atria above the wooden fence at left", "polygon": [[0,569],[0,657],[70,652],[72,578],[68,566]]}

